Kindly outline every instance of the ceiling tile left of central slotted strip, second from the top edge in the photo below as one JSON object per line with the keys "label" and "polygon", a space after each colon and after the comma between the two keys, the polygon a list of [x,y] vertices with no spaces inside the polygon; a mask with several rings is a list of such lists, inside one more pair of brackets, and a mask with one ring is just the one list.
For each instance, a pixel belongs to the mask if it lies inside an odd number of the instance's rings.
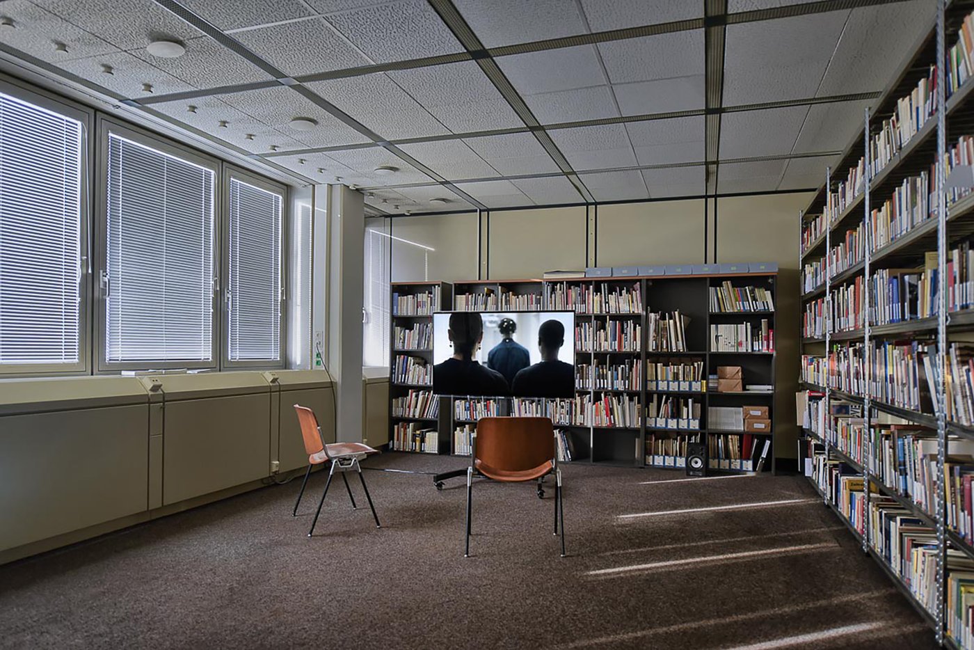
{"label": "ceiling tile left of central slotted strip, second from the top edge", "polygon": [[703,30],[600,43],[614,84],[703,74]]}

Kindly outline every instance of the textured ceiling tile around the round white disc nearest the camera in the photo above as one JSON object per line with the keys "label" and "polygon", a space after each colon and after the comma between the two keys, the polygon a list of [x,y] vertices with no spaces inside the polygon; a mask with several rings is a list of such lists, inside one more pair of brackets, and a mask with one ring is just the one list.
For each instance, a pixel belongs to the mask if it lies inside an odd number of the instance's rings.
{"label": "textured ceiling tile around the round white disc nearest the camera", "polygon": [[271,75],[244,57],[227,50],[207,36],[185,42],[186,54],[178,58],[153,57],[145,50],[132,50],[131,55],[169,72],[195,88],[236,86],[273,79]]}

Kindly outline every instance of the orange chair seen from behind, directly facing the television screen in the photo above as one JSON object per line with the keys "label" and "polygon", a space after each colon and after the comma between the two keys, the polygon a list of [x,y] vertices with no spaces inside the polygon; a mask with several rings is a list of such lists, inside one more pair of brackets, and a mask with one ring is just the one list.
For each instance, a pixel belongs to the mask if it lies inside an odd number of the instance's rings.
{"label": "orange chair seen from behind, directly facing the television screen", "polygon": [[[470,555],[470,516],[473,475],[505,482],[541,480],[555,476],[554,534],[561,522],[561,556],[565,556],[565,510],[561,495],[561,469],[555,450],[555,433],[546,417],[485,417],[477,420],[473,453],[467,469],[467,548]],[[543,492],[539,487],[539,496]]]}

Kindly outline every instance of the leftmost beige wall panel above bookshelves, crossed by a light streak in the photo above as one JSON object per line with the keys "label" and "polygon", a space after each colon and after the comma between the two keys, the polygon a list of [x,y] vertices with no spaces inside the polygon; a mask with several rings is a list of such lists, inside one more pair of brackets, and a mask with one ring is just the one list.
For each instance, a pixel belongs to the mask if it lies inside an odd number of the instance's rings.
{"label": "leftmost beige wall panel above bookshelves, crossed by a light streak", "polygon": [[393,282],[477,279],[476,212],[396,217],[391,221],[393,238],[397,238],[393,239]]}

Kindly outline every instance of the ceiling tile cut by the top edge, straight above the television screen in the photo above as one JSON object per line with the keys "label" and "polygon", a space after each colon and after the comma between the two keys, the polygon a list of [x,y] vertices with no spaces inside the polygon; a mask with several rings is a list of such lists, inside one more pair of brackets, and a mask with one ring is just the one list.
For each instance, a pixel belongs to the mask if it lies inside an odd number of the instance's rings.
{"label": "ceiling tile cut by the top edge, straight above the television screen", "polygon": [[454,0],[488,48],[587,32],[575,0]]}

